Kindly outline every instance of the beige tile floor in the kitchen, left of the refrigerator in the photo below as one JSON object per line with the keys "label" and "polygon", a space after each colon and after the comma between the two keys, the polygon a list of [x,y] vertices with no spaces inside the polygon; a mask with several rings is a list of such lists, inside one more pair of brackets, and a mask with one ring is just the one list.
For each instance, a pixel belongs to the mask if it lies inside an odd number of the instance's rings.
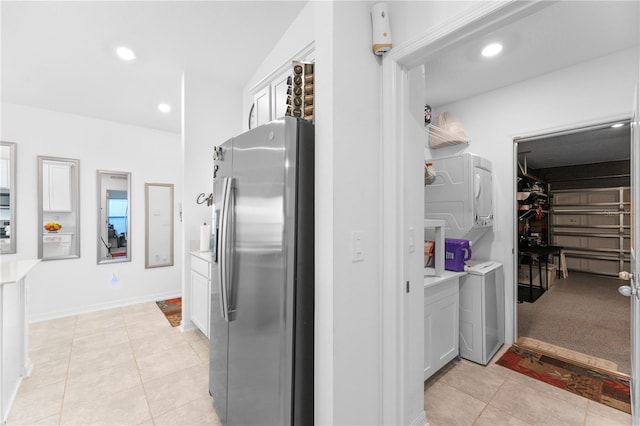
{"label": "beige tile floor in the kitchen, left of the refrigerator", "polygon": [[31,324],[31,377],[8,425],[219,425],[209,341],[155,303]]}

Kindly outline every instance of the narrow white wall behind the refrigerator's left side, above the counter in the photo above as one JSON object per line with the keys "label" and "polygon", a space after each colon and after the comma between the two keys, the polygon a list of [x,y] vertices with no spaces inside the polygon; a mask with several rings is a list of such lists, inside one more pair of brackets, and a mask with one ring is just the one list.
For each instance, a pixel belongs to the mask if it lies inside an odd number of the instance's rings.
{"label": "narrow white wall behind the refrigerator's left side, above the counter", "polygon": [[[182,327],[191,323],[191,265],[189,252],[199,250],[200,225],[211,224],[212,208],[198,204],[200,194],[213,191],[213,148],[242,131],[241,88],[213,81],[194,72],[183,75],[182,147],[177,159],[184,163],[184,195],[180,199],[183,222]],[[179,161],[179,160],[178,160]]]}

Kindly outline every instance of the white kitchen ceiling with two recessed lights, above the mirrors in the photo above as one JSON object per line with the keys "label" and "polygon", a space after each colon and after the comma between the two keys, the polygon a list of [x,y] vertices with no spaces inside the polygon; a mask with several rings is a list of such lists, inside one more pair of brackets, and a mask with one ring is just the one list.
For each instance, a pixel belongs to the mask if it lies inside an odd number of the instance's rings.
{"label": "white kitchen ceiling with two recessed lights, above the mirrors", "polygon": [[2,1],[0,96],[179,133],[183,71],[240,90],[305,3]]}

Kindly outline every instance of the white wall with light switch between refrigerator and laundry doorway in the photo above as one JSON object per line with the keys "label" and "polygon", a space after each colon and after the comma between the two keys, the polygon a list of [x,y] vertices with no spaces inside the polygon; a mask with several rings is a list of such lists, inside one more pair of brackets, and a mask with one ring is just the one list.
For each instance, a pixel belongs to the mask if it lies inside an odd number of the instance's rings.
{"label": "white wall with light switch between refrigerator and laundry doorway", "polygon": [[[245,87],[315,43],[317,424],[382,419],[381,60],[371,51],[372,4],[310,2]],[[353,231],[363,233],[364,261],[352,261]]]}

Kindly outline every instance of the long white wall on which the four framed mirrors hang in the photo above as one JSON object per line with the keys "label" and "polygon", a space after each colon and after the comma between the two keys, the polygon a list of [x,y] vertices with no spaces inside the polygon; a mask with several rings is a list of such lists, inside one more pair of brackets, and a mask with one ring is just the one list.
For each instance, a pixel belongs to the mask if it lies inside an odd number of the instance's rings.
{"label": "long white wall on which the four framed mirrors hang", "polygon": [[[18,155],[18,250],[3,260],[37,257],[37,156],[80,160],[81,257],[34,269],[28,280],[31,321],[180,294],[179,257],[172,267],[144,269],[144,183],[174,183],[181,194],[179,135],[7,103],[1,119],[0,138],[16,142]],[[96,264],[98,169],[131,172],[131,262]]]}

